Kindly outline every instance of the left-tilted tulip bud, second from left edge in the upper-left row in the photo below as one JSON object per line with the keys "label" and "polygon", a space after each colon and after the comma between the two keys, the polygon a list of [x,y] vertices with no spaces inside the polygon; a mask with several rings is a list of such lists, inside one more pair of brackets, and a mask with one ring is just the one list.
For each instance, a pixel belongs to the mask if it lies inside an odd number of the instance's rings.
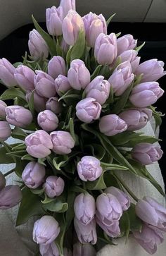
{"label": "left-tilted tulip bud, second from left edge in the upper-left row", "polygon": [[34,90],[34,75],[34,71],[27,66],[20,65],[18,68],[15,68],[15,80],[25,90]]}

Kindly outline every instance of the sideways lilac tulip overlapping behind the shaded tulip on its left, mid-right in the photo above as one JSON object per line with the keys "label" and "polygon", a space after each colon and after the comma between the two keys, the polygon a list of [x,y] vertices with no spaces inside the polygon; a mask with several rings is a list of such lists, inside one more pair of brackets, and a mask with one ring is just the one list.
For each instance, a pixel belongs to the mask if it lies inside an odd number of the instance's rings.
{"label": "sideways lilac tulip overlapping behind the shaded tulip on its left, mid-right", "polygon": [[151,120],[152,111],[151,109],[127,109],[119,116],[127,123],[127,130],[139,130]]}

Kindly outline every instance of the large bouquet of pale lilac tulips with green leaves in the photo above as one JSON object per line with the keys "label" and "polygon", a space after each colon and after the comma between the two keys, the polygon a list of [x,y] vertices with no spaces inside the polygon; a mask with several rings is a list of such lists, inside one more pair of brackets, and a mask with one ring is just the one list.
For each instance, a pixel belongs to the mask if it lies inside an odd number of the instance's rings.
{"label": "large bouquet of pale lilac tulips with green leaves", "polygon": [[[108,35],[112,18],[81,17],[75,0],[61,0],[46,9],[48,32],[32,16],[23,63],[0,59],[0,162],[15,164],[0,173],[0,209],[20,203],[16,225],[38,216],[41,255],[93,256],[122,236],[153,254],[166,231],[165,207],[120,178],[141,176],[165,195],[146,169],[162,157],[158,138],[137,132],[152,116],[161,123],[152,104],[164,92],[164,63],[140,63],[143,44]],[[6,185],[12,172],[18,185]]]}

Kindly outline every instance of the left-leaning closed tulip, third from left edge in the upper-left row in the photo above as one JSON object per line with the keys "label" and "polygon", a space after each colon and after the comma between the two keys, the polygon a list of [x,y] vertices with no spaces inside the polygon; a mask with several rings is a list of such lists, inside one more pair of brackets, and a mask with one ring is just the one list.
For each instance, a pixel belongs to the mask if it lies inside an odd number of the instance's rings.
{"label": "left-leaning closed tulip, third from left edge in the upper-left row", "polygon": [[56,95],[55,82],[50,75],[44,71],[36,71],[34,75],[34,87],[41,97],[50,98]]}

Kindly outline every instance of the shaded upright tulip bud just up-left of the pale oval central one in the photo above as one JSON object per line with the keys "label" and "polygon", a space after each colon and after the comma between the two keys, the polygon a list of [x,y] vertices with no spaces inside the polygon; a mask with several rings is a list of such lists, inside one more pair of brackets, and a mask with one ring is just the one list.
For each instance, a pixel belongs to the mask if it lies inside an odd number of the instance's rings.
{"label": "shaded upright tulip bud just up-left of the pale oval central one", "polygon": [[58,78],[58,75],[66,75],[65,61],[60,56],[53,56],[48,64],[48,74],[52,78]]}

